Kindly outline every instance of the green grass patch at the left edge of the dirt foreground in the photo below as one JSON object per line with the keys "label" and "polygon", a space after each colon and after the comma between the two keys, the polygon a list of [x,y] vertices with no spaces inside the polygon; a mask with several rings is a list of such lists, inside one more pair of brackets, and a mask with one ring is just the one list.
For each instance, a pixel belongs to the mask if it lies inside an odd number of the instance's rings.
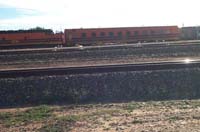
{"label": "green grass patch at the left edge of the dirt foreground", "polygon": [[24,112],[0,113],[0,121],[7,127],[23,125],[32,121],[42,121],[52,115],[51,111],[51,108],[43,105]]}

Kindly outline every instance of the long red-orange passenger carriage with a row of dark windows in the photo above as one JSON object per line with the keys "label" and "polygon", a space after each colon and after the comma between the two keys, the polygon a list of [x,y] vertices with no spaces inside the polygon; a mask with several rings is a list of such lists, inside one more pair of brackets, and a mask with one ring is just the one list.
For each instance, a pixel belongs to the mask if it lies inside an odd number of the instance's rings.
{"label": "long red-orange passenger carriage with a row of dark windows", "polygon": [[66,29],[64,41],[67,45],[95,45],[172,41],[178,40],[179,36],[177,26]]}

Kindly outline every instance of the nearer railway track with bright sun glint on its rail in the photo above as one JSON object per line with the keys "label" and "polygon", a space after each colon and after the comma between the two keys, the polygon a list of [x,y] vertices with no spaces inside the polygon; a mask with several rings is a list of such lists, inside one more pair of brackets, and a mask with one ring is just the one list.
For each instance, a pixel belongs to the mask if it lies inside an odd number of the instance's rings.
{"label": "nearer railway track with bright sun glint on its rail", "polygon": [[128,71],[153,71],[182,68],[199,68],[200,60],[180,60],[165,62],[148,62],[138,64],[116,64],[116,65],[97,65],[83,67],[48,67],[36,69],[15,69],[1,70],[0,78],[17,78],[29,76],[52,76],[52,75],[74,75],[74,74],[93,74],[108,72],[128,72]]}

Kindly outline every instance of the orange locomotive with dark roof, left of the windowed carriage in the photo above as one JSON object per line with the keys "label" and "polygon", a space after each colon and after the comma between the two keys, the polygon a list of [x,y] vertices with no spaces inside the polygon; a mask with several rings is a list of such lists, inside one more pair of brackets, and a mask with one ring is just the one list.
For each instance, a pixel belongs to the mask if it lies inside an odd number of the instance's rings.
{"label": "orange locomotive with dark roof, left of the windowed carriage", "polygon": [[0,46],[53,45],[63,43],[63,34],[50,29],[0,31]]}

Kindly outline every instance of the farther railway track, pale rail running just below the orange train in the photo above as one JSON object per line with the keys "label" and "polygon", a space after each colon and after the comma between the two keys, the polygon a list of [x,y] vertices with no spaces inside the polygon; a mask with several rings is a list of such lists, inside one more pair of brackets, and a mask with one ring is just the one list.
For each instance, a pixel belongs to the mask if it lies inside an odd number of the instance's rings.
{"label": "farther railway track, pale rail running just below the orange train", "polygon": [[174,42],[154,42],[154,43],[137,43],[137,44],[113,44],[102,46],[78,46],[78,47],[54,47],[54,48],[35,48],[35,49],[11,49],[0,50],[0,55],[6,54],[31,54],[31,53],[49,53],[49,52],[73,52],[82,50],[109,50],[126,48],[145,48],[145,47],[162,47],[162,46],[188,46],[200,45],[199,40],[192,41],[174,41]]}

